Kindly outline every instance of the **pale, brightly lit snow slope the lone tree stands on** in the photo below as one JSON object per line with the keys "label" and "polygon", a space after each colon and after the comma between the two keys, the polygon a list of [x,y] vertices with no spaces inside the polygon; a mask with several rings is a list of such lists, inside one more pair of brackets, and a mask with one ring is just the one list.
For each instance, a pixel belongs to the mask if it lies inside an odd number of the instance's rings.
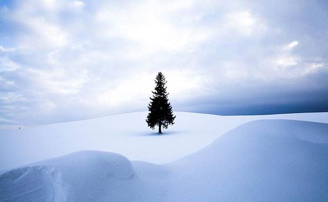
{"label": "pale, brightly lit snow slope the lone tree stands on", "polygon": [[211,144],[223,133],[257,119],[328,123],[328,113],[218,116],[175,112],[175,125],[158,136],[145,122],[147,112],[78,122],[0,131],[0,171],[80,150],[122,154],[131,160],[170,163]]}

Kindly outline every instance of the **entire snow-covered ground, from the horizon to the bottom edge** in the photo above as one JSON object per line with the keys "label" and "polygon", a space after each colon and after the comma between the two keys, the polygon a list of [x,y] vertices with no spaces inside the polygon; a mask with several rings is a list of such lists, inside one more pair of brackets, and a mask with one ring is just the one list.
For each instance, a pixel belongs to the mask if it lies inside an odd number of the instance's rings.
{"label": "entire snow-covered ground, from the horizon to the bottom edge", "polygon": [[0,201],[328,201],[328,113],[175,114],[2,131]]}

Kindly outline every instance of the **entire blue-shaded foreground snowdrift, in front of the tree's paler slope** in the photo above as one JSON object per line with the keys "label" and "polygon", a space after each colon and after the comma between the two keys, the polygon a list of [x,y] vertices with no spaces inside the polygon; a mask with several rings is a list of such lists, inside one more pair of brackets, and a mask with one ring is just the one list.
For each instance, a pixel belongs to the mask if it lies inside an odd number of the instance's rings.
{"label": "entire blue-shaded foreground snowdrift, in front of the tree's paler slope", "polygon": [[255,120],[218,136],[162,165],[97,151],[39,161],[0,175],[0,201],[328,200],[328,124]]}

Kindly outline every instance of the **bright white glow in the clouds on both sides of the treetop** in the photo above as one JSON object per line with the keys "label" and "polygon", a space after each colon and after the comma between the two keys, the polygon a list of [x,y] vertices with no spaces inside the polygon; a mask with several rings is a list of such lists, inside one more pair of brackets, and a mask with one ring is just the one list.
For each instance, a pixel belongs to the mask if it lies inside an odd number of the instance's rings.
{"label": "bright white glow in the clouds on both sides of the treetop", "polygon": [[[167,84],[169,97],[175,97],[175,99],[190,97],[193,91],[198,91],[206,82],[206,78],[187,70],[166,71],[165,76],[169,81]],[[118,106],[122,103],[134,103],[139,97],[150,97],[151,91],[155,87],[155,77],[156,74],[142,73],[131,79],[124,79],[116,85],[109,84],[114,88],[104,89],[104,92],[98,97],[98,103],[105,106]],[[135,78],[138,80],[137,82],[134,80]]]}

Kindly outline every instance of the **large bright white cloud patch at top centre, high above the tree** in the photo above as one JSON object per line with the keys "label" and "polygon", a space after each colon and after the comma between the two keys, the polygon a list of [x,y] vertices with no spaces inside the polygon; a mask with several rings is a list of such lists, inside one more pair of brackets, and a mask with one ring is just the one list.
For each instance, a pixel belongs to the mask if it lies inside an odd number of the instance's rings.
{"label": "large bright white cloud patch at top centre, high above the tree", "polygon": [[193,24],[183,27],[170,19],[172,10],[189,4],[166,4],[146,1],[128,8],[105,7],[97,11],[95,19],[102,37],[126,38],[146,47],[147,52],[185,50],[207,38],[206,30],[197,29]]}

